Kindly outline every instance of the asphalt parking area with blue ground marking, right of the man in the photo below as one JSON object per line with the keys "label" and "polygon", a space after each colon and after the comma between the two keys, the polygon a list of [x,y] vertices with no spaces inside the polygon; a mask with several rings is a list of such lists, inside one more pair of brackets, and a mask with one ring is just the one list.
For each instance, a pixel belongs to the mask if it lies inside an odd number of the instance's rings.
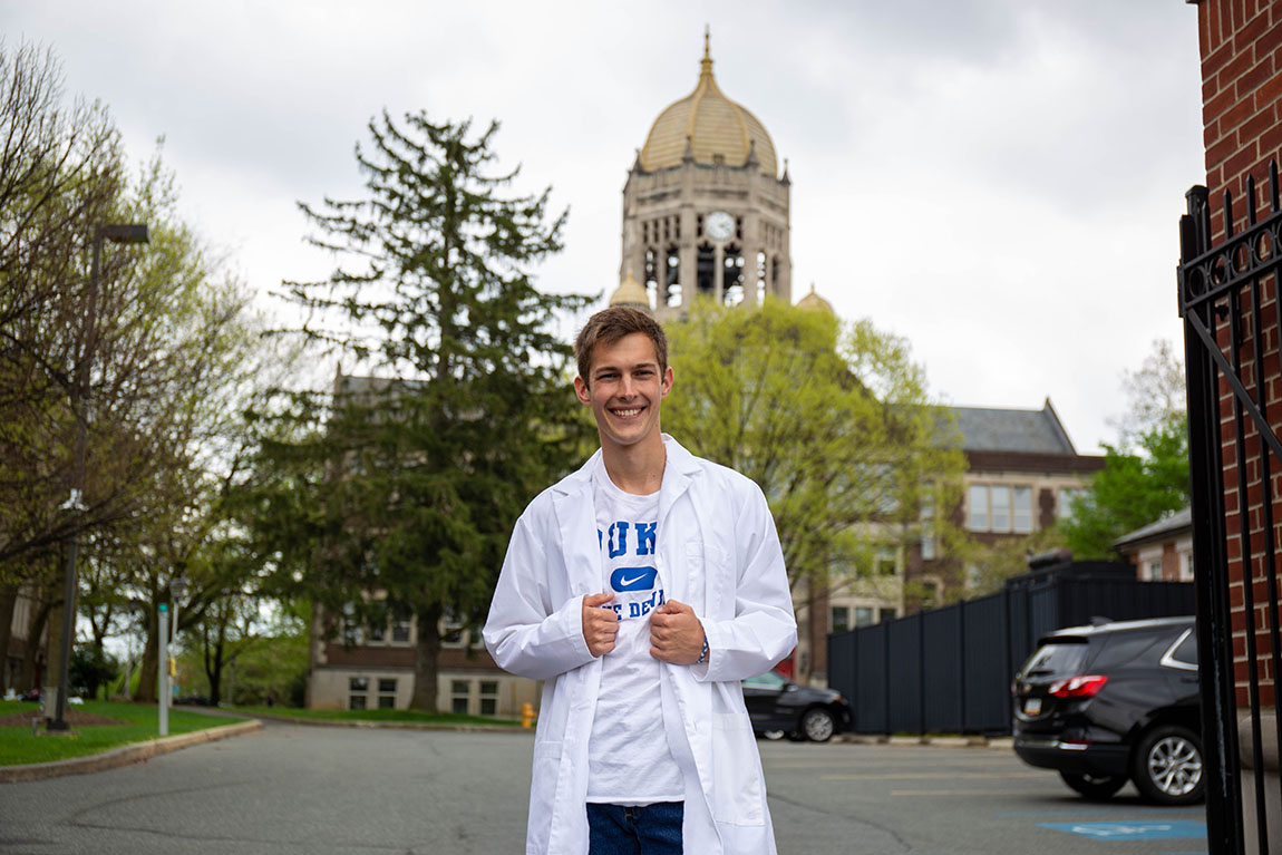
{"label": "asphalt parking area with blue ground marking, right of the man", "polygon": [[779,851],[1204,855],[1201,808],[1088,802],[1008,747],[762,743]]}

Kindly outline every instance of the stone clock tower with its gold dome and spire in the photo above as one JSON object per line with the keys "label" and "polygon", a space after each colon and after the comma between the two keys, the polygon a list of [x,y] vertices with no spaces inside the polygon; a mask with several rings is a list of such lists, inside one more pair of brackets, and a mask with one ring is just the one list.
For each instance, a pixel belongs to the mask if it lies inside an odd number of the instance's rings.
{"label": "stone clock tower with its gold dome and spire", "polygon": [[787,164],[765,127],[726,97],[704,33],[695,91],[655,119],[623,186],[623,263],[660,322],[694,295],[756,305],[792,299]]}

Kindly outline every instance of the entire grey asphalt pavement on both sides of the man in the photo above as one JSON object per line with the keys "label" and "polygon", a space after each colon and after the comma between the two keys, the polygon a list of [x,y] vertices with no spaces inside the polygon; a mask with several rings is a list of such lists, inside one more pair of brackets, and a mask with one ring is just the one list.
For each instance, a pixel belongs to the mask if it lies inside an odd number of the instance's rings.
{"label": "entire grey asphalt pavement on both sides of the man", "polygon": [[[1009,749],[762,742],[779,852],[1205,855],[1201,809],[1072,793]],[[0,852],[524,849],[528,733],[262,731],[109,772],[0,784]]]}

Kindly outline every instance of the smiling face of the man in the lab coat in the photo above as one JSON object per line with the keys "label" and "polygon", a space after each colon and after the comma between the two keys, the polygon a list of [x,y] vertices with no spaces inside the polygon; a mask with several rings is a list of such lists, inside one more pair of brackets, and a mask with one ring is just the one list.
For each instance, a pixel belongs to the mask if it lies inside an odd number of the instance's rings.
{"label": "smiling face of the man in the lab coat", "polygon": [[587,382],[574,378],[574,392],[592,408],[601,445],[627,447],[659,435],[659,406],[672,390],[672,367],[659,370],[654,342],[633,332],[592,350]]}

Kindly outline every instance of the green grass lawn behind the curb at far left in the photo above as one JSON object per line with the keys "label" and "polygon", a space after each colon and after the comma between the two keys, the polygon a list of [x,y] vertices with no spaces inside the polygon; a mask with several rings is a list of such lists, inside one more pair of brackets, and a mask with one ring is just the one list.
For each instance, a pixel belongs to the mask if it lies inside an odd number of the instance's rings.
{"label": "green grass lawn behind the curb at far left", "polygon": [[[0,727],[0,765],[23,765],[67,760],[90,754],[101,754],[132,742],[146,742],[158,738],[158,710],[154,704],[119,704],[112,701],[86,701],[68,706],[68,710],[96,713],[122,722],[121,724],[72,724],[74,736],[31,735],[29,719],[37,715],[40,704],[24,701],[0,702],[0,715],[26,713],[28,723],[23,727]],[[169,710],[169,736],[204,731],[212,727],[233,724],[237,720],[226,715],[201,715],[185,709]]]}

